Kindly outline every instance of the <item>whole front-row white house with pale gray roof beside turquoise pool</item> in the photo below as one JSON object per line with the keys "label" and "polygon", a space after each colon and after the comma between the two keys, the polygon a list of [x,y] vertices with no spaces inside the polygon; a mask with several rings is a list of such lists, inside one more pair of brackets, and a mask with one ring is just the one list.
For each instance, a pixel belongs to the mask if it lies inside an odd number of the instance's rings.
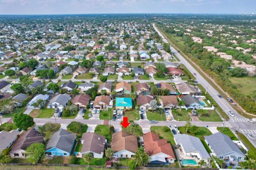
{"label": "whole front-row white house with pale gray roof beside turquoise pool", "polygon": [[175,143],[180,147],[183,155],[197,157],[198,159],[204,159],[205,162],[210,155],[203,146],[203,143],[199,138],[193,137],[188,134],[175,134],[174,135]]}

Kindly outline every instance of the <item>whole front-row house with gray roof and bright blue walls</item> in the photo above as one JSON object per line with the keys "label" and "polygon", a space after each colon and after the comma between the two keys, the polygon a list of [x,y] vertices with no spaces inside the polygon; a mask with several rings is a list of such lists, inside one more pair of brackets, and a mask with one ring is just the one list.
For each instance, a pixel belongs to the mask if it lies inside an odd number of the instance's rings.
{"label": "whole front-row house with gray roof and bright blue walls", "polygon": [[60,129],[53,133],[46,145],[45,152],[52,156],[70,156],[76,140],[76,134]]}

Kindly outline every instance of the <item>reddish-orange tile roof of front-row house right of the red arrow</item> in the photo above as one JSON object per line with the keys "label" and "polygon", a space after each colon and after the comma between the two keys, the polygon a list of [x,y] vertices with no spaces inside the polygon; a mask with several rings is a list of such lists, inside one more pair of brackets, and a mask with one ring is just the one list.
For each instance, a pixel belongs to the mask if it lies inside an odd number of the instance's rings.
{"label": "reddish-orange tile roof of front-row house right of the red arrow", "polygon": [[164,153],[169,155],[169,159],[175,159],[171,144],[167,143],[166,139],[159,139],[159,136],[154,132],[143,134],[143,142],[145,146],[145,152],[149,156]]}

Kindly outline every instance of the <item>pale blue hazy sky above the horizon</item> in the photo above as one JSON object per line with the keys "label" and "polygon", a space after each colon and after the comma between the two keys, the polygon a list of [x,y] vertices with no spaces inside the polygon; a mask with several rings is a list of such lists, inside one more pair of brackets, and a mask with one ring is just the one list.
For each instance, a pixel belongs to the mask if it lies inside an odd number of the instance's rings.
{"label": "pale blue hazy sky above the horizon", "polygon": [[256,0],[0,0],[0,14],[256,13]]}

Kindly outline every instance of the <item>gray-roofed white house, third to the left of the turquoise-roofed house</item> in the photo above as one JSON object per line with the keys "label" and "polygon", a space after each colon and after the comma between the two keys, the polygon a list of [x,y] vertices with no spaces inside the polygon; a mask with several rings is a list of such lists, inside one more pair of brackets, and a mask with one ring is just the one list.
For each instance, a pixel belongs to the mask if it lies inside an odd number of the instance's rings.
{"label": "gray-roofed white house, third to the left of the turquoise-roofed house", "polygon": [[47,108],[59,108],[61,111],[63,111],[63,108],[65,108],[68,105],[68,101],[71,99],[70,95],[68,94],[59,94],[57,96],[54,96],[47,105]]}

